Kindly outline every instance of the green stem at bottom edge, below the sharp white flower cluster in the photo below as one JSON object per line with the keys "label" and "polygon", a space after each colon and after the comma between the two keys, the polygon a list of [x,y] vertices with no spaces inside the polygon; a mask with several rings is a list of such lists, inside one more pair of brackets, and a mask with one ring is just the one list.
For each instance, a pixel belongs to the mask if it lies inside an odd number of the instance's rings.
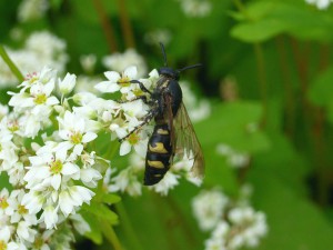
{"label": "green stem at bottom edge, below the sharp white flower cluster", "polygon": [[118,202],[114,204],[115,209],[119,213],[119,217],[121,219],[121,227],[124,228],[124,232],[127,234],[127,238],[129,239],[129,241],[131,242],[132,248],[131,249],[137,249],[137,250],[143,250],[137,234],[135,231],[133,229],[133,226],[129,219],[129,216],[125,211],[125,208],[123,207],[122,202]]}

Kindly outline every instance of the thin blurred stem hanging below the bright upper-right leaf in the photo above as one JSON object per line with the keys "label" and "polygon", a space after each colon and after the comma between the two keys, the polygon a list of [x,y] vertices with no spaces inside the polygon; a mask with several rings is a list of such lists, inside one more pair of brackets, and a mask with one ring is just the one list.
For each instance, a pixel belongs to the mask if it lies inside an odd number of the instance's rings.
{"label": "thin blurred stem hanging below the bright upper-right leaf", "polygon": [[254,53],[256,58],[256,64],[258,64],[259,86],[260,86],[262,107],[263,107],[263,117],[261,121],[261,127],[264,128],[266,124],[268,109],[269,109],[265,64],[264,64],[262,46],[260,43],[254,43],[253,46],[254,46]]}

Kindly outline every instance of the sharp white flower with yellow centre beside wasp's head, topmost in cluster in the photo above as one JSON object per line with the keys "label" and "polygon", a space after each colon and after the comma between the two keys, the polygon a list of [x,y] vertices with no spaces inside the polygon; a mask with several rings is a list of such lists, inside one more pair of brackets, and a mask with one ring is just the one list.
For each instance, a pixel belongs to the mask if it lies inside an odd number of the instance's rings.
{"label": "sharp white flower with yellow centre beside wasp's head, topmost in cluster", "polygon": [[108,81],[102,81],[98,83],[94,88],[101,92],[128,92],[131,88],[130,81],[137,77],[137,67],[125,68],[122,74],[115,71],[107,71],[104,74],[108,78]]}

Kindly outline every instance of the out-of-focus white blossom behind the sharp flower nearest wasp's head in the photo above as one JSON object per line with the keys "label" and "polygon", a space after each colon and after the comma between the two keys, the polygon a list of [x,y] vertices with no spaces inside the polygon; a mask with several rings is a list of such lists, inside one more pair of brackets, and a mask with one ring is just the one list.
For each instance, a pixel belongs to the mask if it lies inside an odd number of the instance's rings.
{"label": "out-of-focus white blossom behind the sharp flower nearest wasp's head", "polygon": [[121,72],[130,66],[135,66],[140,71],[138,78],[147,73],[147,66],[142,56],[134,49],[128,49],[124,53],[113,53],[103,58],[102,63],[105,68]]}

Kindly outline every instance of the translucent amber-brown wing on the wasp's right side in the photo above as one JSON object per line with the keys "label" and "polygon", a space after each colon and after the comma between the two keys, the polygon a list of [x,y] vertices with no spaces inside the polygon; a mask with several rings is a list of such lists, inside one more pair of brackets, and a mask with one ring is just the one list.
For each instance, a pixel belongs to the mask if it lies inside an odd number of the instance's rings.
{"label": "translucent amber-brown wing on the wasp's right side", "polygon": [[183,158],[184,154],[191,157],[191,159],[193,159],[191,172],[194,177],[202,179],[204,176],[204,159],[200,142],[183,103],[181,103],[178,110],[173,124],[176,141],[175,153],[181,158]]}

